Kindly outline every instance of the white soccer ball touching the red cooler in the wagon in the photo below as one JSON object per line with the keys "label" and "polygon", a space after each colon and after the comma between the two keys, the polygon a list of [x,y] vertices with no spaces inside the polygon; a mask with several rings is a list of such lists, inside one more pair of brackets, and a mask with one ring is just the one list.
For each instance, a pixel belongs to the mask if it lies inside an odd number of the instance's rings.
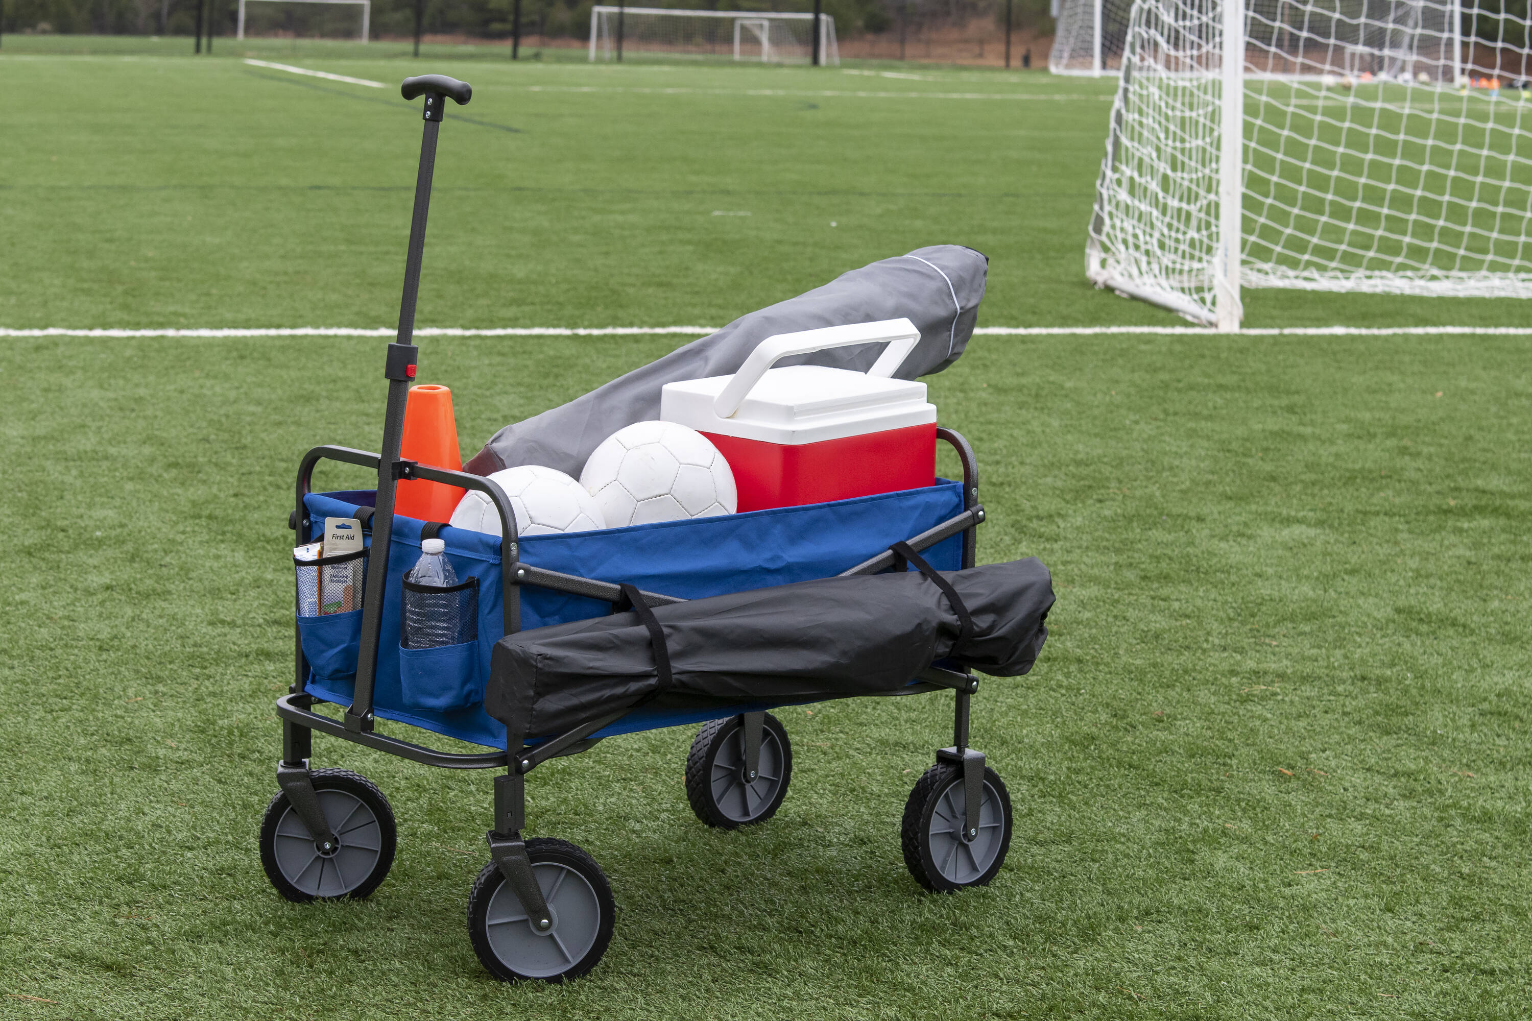
{"label": "white soccer ball touching the red cooler in the wagon", "polygon": [[734,471],[719,449],[677,422],[634,422],[607,436],[579,473],[608,528],[732,514]]}

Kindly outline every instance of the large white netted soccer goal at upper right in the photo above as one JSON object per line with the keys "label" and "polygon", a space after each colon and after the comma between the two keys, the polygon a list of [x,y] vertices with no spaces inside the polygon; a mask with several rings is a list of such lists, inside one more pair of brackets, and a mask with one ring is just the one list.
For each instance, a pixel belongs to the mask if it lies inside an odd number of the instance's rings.
{"label": "large white netted soccer goal at upper right", "polygon": [[1219,329],[1241,288],[1529,298],[1529,75],[1498,8],[1138,0],[1086,274]]}

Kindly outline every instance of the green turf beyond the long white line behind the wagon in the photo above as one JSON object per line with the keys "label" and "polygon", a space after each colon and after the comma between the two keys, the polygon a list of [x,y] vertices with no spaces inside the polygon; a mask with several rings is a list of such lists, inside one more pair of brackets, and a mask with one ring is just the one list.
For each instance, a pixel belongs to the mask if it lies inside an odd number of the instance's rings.
{"label": "green turf beyond the long white line behind the wagon", "polygon": [[[719,326],[948,242],[990,256],[980,325],[1184,325],[1085,280],[1111,80],[306,61],[389,84],[369,89],[222,51],[5,54],[0,87],[26,101],[0,113],[0,326],[394,321],[420,150],[395,83],[435,67],[475,95],[441,133],[420,325]],[[1527,318],[1509,298],[1246,303],[1247,326]]]}

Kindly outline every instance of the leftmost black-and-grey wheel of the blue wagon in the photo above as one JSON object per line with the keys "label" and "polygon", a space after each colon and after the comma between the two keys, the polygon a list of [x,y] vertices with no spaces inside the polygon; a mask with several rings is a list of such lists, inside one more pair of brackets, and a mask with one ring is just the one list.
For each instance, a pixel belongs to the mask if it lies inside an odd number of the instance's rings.
{"label": "leftmost black-and-grey wheel of the blue wagon", "polygon": [[[296,811],[291,811],[286,793],[271,799],[260,820],[260,866],[276,891],[291,902],[306,903],[337,897],[360,900],[378,888],[394,865],[394,850],[398,843],[394,808],[383,791],[360,773],[325,768],[313,770],[309,776],[325,819],[340,837],[340,850],[328,856],[328,862],[332,863],[332,879],[326,882],[326,856],[319,854],[317,848],[313,850],[309,863],[302,871],[296,869],[294,862],[302,859],[302,836],[308,833],[308,827]],[[326,791],[332,796],[326,798]],[[348,811],[357,813],[363,807],[371,813],[371,819],[348,828],[348,822],[354,819],[348,817]],[[309,874],[314,862],[319,863],[317,879]],[[343,863],[352,866],[351,876],[343,873]]]}

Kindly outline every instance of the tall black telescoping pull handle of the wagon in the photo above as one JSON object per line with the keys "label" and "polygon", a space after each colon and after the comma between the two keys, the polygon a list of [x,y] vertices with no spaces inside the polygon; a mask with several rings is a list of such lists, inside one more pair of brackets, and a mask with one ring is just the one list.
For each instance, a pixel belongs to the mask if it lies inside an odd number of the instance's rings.
{"label": "tall black telescoping pull handle of the wagon", "polygon": [[420,170],[415,175],[415,213],[409,222],[409,253],[404,257],[404,294],[398,303],[398,338],[388,346],[388,409],[383,413],[383,449],[378,458],[378,490],[372,516],[372,548],[368,550],[368,580],[362,599],[362,648],[357,652],[357,683],[346,709],[346,729],[372,730],[372,686],[377,677],[378,644],[383,638],[383,588],[388,582],[388,548],[394,536],[394,497],[398,487],[398,450],[404,439],[404,407],[415,378],[418,349],[415,338],[415,298],[420,294],[420,262],[426,251],[426,216],[430,213],[430,178],[437,168],[437,133],[446,96],[463,106],[473,95],[466,81],[446,75],[406,78],[400,86],[406,99],[426,96],[424,135],[420,139]]}

